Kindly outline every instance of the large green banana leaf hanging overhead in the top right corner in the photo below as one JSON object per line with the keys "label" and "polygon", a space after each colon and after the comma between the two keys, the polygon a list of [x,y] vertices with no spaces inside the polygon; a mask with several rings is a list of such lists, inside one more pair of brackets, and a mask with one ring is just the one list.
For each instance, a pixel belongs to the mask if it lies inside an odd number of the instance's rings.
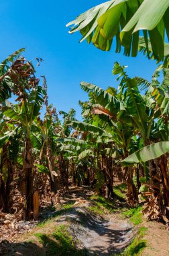
{"label": "large green banana leaf hanging overhead in the top right corner", "polygon": [[[70,33],[80,31],[82,40],[103,50],[111,49],[116,39],[115,51],[124,46],[125,55],[135,57],[139,48],[139,31],[143,30],[148,51],[148,38],[154,59],[164,59],[164,38],[169,38],[168,0],[112,0],[97,5],[78,15],[66,26],[74,25]],[[82,42],[80,40],[80,42]],[[114,45],[114,44],[113,44]]]}

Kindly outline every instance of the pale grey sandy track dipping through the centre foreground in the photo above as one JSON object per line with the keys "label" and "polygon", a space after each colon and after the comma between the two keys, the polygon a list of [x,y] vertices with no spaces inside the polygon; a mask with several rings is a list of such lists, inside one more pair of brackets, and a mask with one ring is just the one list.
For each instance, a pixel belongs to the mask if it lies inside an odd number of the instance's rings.
{"label": "pale grey sandy track dipping through the centre foreground", "polygon": [[91,254],[112,255],[129,245],[135,234],[127,220],[118,220],[115,214],[105,218],[91,214],[91,203],[86,201],[56,220],[60,224],[70,222],[70,232]]}

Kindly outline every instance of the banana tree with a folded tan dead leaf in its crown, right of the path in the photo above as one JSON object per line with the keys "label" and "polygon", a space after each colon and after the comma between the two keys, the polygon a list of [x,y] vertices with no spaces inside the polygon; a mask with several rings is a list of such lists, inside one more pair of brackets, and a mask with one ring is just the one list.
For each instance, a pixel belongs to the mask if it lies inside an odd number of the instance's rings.
{"label": "banana tree with a folded tan dead leaf in its crown, right of the path", "polygon": [[[117,148],[122,150],[123,157],[127,156],[133,128],[130,123],[126,123],[121,116],[126,113],[123,98],[114,88],[103,90],[93,84],[81,83],[84,91],[89,93],[90,102],[93,104],[93,123],[104,127],[109,131],[112,141]],[[133,183],[132,169],[125,170],[127,175],[127,198],[129,204],[137,202],[137,191]]]}

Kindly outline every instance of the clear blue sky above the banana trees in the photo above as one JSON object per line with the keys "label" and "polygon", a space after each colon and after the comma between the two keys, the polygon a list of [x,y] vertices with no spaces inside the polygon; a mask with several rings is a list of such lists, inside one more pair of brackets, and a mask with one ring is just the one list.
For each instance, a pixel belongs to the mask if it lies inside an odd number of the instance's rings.
{"label": "clear blue sky above the banana trees", "polygon": [[113,49],[105,53],[87,42],[78,43],[79,32],[68,34],[66,24],[100,0],[1,0],[0,3],[0,55],[1,60],[26,48],[25,57],[42,57],[38,76],[46,75],[50,103],[57,110],[76,109],[80,119],[78,100],[87,100],[80,89],[80,82],[91,82],[102,88],[117,86],[112,75],[113,63],[128,65],[131,76],[151,79],[155,61],[139,55],[137,58],[115,54]]}

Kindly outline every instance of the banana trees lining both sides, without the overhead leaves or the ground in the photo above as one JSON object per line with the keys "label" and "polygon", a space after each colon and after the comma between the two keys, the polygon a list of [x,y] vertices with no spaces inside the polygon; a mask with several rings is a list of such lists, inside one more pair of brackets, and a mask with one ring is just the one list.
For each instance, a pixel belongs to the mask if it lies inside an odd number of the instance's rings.
{"label": "banana trees lining both sides, without the overhead leaves or the ground", "polygon": [[119,89],[82,82],[89,94],[88,102],[79,102],[83,121],[71,109],[60,111],[60,122],[48,105],[45,77],[36,77],[22,51],[0,66],[1,211],[17,219],[38,218],[43,198],[50,195],[55,205],[69,185],[91,185],[110,198],[119,175],[127,185],[129,205],[142,202],[148,218],[168,224],[168,69],[159,65],[148,82],[130,78],[115,63]]}

